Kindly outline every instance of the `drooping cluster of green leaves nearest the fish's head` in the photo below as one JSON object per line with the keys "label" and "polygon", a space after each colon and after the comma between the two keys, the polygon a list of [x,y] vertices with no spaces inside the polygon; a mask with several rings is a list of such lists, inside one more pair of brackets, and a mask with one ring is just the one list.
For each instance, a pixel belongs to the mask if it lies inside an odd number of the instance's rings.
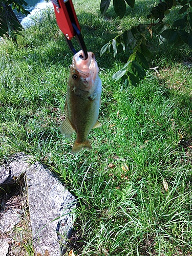
{"label": "drooping cluster of green leaves nearest the fish's head", "polygon": [[136,86],[139,78],[144,79],[146,77],[145,70],[148,69],[146,58],[151,57],[151,52],[146,47],[145,36],[148,30],[148,27],[142,24],[132,27],[132,29],[125,30],[101,48],[101,55],[109,52],[114,56],[118,52],[125,51],[126,47],[133,50],[125,66],[113,75],[113,79],[118,80],[121,78],[125,83],[129,79],[133,86]]}

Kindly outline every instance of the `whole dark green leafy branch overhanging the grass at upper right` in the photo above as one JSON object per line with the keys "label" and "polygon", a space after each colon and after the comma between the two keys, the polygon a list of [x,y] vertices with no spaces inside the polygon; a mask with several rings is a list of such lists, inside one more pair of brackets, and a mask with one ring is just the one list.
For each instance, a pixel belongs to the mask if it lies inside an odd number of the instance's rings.
{"label": "whole dark green leafy branch overhanging the grass at upper right", "polygon": [[[122,0],[119,1],[119,4]],[[123,0],[124,1],[124,0]],[[129,5],[132,2],[132,8],[134,7],[135,1],[126,1]],[[110,1],[101,0],[100,10],[101,13],[105,13],[109,8]],[[128,3],[127,3],[128,4]],[[184,14],[180,19],[175,20],[172,25],[168,25],[163,22],[165,15],[170,13],[170,9],[180,5],[178,14]],[[126,48],[133,51],[130,55],[127,63],[124,67],[113,75],[113,79],[122,79],[125,84],[130,81],[133,86],[146,77],[146,70],[149,68],[148,60],[152,56],[150,50],[147,48],[146,34],[149,33],[152,38],[153,35],[159,37],[159,44],[167,42],[174,48],[178,48],[184,44],[188,45],[192,49],[192,1],[176,1],[176,0],[165,0],[153,7],[147,18],[150,20],[150,24],[132,27],[131,29],[125,30],[120,35],[117,35],[114,39],[110,40],[105,44],[100,51],[100,54],[110,53],[114,57],[118,53],[125,52]],[[117,9],[114,10],[116,14],[121,18],[125,14],[126,6],[121,13]]]}

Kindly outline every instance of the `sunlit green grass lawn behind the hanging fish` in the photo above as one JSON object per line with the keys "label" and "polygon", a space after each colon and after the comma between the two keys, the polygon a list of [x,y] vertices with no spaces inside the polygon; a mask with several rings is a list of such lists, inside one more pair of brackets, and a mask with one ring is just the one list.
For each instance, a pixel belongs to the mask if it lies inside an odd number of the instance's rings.
{"label": "sunlit green grass lawn behind the hanging fish", "polygon": [[154,38],[151,67],[158,73],[147,71],[137,87],[112,80],[129,55],[99,54],[116,33],[146,23],[152,3],[136,1],[119,20],[112,7],[102,17],[99,1],[74,1],[102,80],[102,127],[89,135],[93,150],[75,156],[75,135],[59,132],[72,54],[54,13],[35,16],[18,46],[0,42],[0,159],[31,154],[78,198],[69,241],[78,255],[192,254],[191,52],[158,47]]}

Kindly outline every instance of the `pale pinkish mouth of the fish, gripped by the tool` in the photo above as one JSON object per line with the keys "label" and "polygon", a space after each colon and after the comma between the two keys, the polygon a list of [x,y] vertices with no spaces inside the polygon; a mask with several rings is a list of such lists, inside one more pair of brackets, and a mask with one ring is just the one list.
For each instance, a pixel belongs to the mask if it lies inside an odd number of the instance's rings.
{"label": "pale pinkish mouth of the fish, gripped by the tool", "polygon": [[92,80],[95,80],[95,77],[99,72],[99,68],[95,60],[95,54],[88,52],[88,58],[85,60],[82,59],[82,55],[83,52],[81,50],[73,56],[72,66],[83,78],[90,77]]}

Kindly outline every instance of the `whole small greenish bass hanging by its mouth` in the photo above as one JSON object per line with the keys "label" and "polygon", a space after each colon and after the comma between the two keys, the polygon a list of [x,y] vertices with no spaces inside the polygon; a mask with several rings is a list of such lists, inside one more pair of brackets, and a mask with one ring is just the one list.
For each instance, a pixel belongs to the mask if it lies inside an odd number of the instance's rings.
{"label": "whole small greenish bass hanging by its mouth", "polygon": [[65,120],[60,125],[60,132],[66,138],[76,132],[76,140],[71,153],[76,154],[82,148],[92,149],[88,135],[93,128],[98,128],[101,105],[101,79],[95,54],[88,52],[88,58],[82,59],[82,50],[72,59],[65,102]]}

